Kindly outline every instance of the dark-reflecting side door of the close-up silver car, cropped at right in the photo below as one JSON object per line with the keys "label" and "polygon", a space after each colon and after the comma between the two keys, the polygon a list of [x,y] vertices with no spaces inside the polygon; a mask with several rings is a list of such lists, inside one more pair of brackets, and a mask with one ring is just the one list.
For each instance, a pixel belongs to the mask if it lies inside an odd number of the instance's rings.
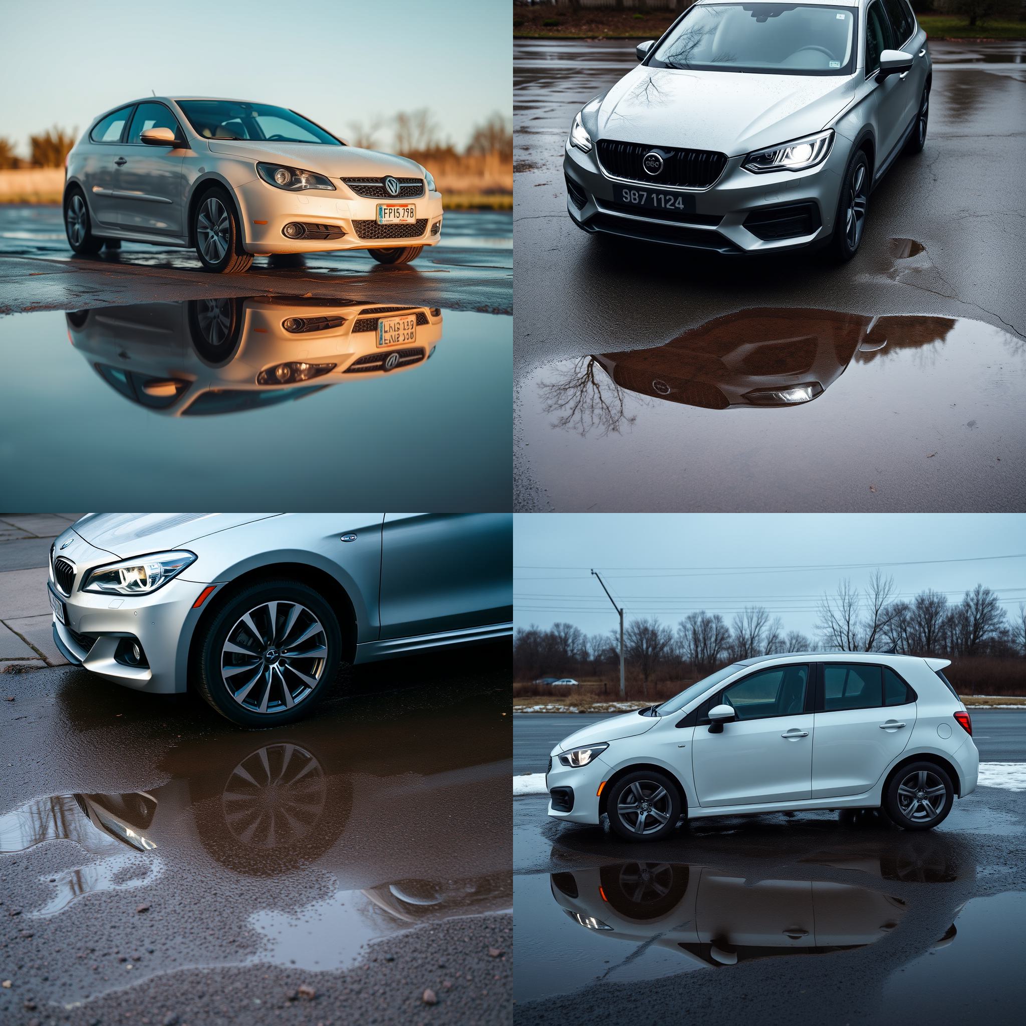
{"label": "dark-reflecting side door of the close-up silver car, cropped at right", "polygon": [[382,638],[509,623],[512,561],[508,513],[386,513]]}

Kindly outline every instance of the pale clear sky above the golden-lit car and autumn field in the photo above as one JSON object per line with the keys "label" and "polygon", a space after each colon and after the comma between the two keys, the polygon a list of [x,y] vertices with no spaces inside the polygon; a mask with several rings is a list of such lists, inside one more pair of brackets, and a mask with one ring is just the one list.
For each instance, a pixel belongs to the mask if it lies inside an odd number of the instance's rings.
{"label": "pale clear sky above the golden-lit car and autumn field", "polygon": [[[351,121],[430,108],[462,148],[512,110],[509,0],[174,0],[0,4],[0,135],[24,156],[53,124],[84,130],[125,100],[275,103],[346,135]],[[391,144],[391,130],[379,146]]]}

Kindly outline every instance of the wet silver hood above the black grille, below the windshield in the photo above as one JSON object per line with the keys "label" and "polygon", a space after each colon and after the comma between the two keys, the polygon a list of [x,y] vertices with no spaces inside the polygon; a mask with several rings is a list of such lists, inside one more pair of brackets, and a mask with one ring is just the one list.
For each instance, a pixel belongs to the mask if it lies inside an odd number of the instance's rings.
{"label": "wet silver hood above the black grille, below the windshield", "polygon": [[598,106],[599,139],[713,150],[728,157],[819,131],[855,96],[855,79],[638,66]]}

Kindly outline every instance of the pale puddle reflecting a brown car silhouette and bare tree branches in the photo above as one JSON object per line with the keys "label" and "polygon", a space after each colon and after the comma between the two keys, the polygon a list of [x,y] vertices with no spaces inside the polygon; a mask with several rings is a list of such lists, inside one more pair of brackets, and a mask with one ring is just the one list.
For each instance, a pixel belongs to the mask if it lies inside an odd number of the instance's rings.
{"label": "pale puddle reflecting a brown car silhouette and bare tree branches", "polygon": [[979,321],[752,309],[543,365],[517,459],[563,511],[1019,508],[1024,387]]}

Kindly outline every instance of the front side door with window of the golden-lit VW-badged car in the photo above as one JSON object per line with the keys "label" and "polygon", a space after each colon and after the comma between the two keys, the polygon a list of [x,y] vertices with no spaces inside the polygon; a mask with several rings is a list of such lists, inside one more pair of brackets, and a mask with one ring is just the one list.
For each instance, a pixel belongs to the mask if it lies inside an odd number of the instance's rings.
{"label": "front side door with window of the golden-lit VW-badged car", "polygon": [[185,151],[174,146],[147,146],[141,134],[148,128],[170,128],[184,140],[174,115],[163,104],[140,104],[128,127],[117,186],[118,223],[125,231],[148,235],[184,233]]}

